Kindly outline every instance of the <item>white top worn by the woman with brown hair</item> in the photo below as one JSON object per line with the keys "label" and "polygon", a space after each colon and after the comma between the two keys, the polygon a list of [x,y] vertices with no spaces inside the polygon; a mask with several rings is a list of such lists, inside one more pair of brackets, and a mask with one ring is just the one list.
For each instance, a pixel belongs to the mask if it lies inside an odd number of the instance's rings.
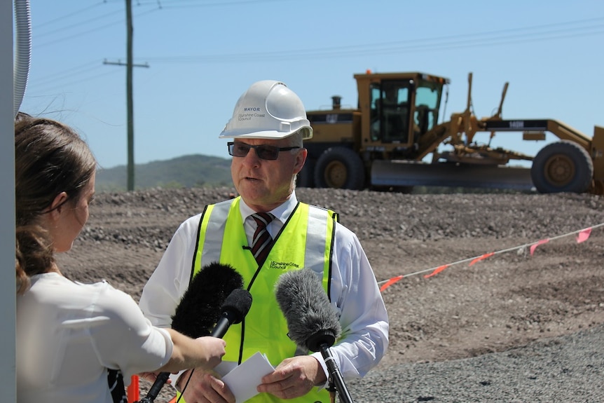
{"label": "white top worn by the woman with brown hair", "polygon": [[173,343],[136,301],[107,282],[32,276],[17,296],[17,401],[113,403],[107,368],[124,383],[170,360]]}

